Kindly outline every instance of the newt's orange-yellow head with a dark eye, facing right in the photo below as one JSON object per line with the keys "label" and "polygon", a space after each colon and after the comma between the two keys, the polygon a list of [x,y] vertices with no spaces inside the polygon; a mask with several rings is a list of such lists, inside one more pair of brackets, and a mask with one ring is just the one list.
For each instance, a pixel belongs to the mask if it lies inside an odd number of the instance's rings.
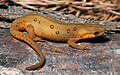
{"label": "newt's orange-yellow head with a dark eye, facing right", "polygon": [[77,37],[81,39],[94,38],[104,34],[105,28],[101,24],[85,24],[79,29]]}

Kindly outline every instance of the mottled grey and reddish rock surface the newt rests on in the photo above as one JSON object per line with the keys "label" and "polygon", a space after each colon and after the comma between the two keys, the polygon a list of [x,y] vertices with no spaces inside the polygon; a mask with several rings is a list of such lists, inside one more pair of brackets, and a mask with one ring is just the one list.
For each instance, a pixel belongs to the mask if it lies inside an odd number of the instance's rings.
{"label": "mottled grey and reddish rock surface the newt rests on", "polygon": [[[119,31],[83,40],[85,43],[78,42],[86,44],[91,49],[89,51],[74,49],[61,42],[37,42],[46,57],[46,63],[41,69],[26,71],[25,67],[39,62],[40,58],[24,42],[14,42],[9,27],[14,18],[26,15],[31,10],[16,7],[0,10],[4,14],[4,19],[2,17],[0,21],[1,75],[120,75]],[[114,26],[114,23],[111,24]]]}

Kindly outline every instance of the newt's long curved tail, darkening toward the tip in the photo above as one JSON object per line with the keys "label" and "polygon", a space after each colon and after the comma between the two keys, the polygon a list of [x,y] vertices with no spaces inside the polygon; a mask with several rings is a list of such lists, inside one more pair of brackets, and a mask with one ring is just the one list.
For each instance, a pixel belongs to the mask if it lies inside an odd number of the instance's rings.
{"label": "newt's long curved tail, darkening toward the tip", "polygon": [[[23,26],[27,26],[24,25],[24,23],[21,23]],[[27,23],[25,23],[27,24]],[[27,34],[20,32],[19,30],[25,30],[26,28],[24,27],[20,27],[19,24],[16,24],[15,21],[12,23],[11,27],[10,27],[10,33],[17,39],[22,40],[24,42],[26,42],[27,44],[29,44],[30,46],[32,46],[32,48],[37,52],[37,54],[40,56],[41,61],[35,65],[29,66],[26,68],[26,70],[36,70],[40,67],[42,67],[45,63],[45,57],[42,54],[40,48],[38,47],[37,43],[35,43]]]}

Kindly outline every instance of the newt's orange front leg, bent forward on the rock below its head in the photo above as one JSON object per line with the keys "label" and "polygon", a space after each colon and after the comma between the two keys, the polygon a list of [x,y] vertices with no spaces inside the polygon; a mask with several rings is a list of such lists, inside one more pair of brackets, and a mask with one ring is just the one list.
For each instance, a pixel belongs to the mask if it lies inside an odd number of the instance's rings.
{"label": "newt's orange front leg, bent forward on the rock below its head", "polygon": [[77,42],[78,40],[81,40],[81,38],[70,38],[67,43],[70,46],[77,48],[77,49],[89,50],[86,46],[76,44],[75,42]]}

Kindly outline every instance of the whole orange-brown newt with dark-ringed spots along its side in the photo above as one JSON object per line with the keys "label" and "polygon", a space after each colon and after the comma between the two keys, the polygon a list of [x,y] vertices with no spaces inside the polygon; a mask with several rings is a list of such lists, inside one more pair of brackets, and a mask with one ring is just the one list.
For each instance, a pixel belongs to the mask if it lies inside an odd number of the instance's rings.
{"label": "whole orange-brown newt with dark-ringed spots along its side", "polygon": [[[25,30],[28,34],[22,33]],[[45,57],[35,41],[46,38],[53,41],[67,42],[70,46],[81,50],[86,46],[76,44],[78,40],[94,38],[102,35],[105,28],[99,23],[60,23],[53,18],[45,17],[36,12],[17,18],[10,27],[10,33],[15,38],[28,43],[41,57],[41,61],[27,70],[35,70],[44,65]]]}

